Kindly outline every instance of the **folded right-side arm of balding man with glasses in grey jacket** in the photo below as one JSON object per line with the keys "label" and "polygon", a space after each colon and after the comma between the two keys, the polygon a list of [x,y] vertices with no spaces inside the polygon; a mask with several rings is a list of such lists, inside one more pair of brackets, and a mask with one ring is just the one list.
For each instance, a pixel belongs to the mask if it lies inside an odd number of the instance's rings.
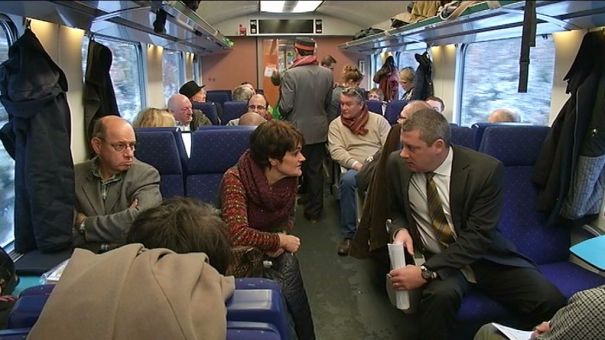
{"label": "folded right-side arm of balding man with glasses in grey jacket", "polygon": [[124,210],[113,214],[87,216],[84,222],[86,241],[123,242],[137,215],[162,202],[160,175],[155,168],[144,167],[135,178],[123,180],[128,181],[123,185],[134,187],[133,194],[128,197],[128,205]]}

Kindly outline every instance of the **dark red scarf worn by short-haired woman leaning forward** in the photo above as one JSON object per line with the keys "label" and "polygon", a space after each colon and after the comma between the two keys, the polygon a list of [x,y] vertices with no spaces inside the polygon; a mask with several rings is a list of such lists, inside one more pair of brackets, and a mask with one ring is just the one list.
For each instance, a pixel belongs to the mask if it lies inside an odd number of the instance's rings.
{"label": "dark red scarf worn by short-haired woman leaning forward", "polygon": [[248,225],[264,231],[281,231],[296,199],[297,177],[285,177],[269,186],[264,170],[252,160],[250,150],[237,162],[240,179],[246,191]]}

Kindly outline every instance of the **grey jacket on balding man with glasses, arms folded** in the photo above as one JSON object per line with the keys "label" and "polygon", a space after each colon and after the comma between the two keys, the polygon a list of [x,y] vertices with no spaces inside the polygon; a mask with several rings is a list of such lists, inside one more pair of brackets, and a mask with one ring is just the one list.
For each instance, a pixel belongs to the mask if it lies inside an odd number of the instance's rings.
{"label": "grey jacket on balding man with glasses, arms folded", "polygon": [[[75,166],[76,211],[88,216],[86,237],[75,240],[82,243],[101,242],[122,244],[132,221],[143,210],[162,202],[160,175],[149,164],[135,160],[122,173],[120,182],[109,184],[105,202],[101,197],[101,182],[93,175],[96,158]],[[130,208],[138,200],[138,207]]]}

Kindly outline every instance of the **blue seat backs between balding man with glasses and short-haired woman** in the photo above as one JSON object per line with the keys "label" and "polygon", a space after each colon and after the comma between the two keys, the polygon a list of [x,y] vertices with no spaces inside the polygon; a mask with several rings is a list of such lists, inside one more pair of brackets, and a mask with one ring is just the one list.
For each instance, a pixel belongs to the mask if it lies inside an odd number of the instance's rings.
{"label": "blue seat backs between balding man with glasses and short-haired woman", "polygon": [[189,196],[215,203],[223,174],[248,149],[253,130],[248,126],[203,127],[190,134],[188,156],[176,128],[139,128],[135,156],[160,173],[162,197]]}

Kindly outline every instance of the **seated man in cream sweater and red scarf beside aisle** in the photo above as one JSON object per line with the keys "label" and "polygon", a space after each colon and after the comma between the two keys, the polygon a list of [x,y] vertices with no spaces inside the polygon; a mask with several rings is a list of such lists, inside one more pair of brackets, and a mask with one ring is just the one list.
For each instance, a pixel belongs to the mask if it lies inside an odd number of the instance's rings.
{"label": "seated man in cream sweater and red scarf beside aisle", "polygon": [[349,254],[351,239],[357,229],[355,209],[356,175],[383,145],[391,126],[380,114],[368,112],[358,88],[347,88],[340,95],[340,117],[330,123],[330,155],[347,172],[340,178],[340,232],[343,240],[338,255]]}

